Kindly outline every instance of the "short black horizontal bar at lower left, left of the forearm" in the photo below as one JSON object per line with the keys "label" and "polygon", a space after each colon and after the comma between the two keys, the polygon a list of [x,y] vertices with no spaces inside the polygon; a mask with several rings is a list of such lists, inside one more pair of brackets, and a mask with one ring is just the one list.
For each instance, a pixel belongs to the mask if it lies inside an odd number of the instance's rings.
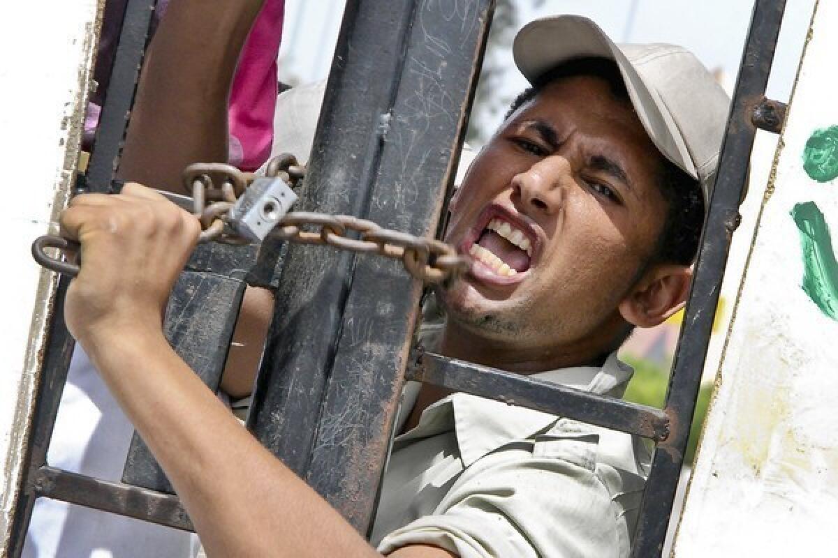
{"label": "short black horizontal bar at lower left, left of the forearm", "polygon": [[31,484],[38,496],[151,521],[174,529],[194,531],[192,521],[177,496],[160,494],[130,484],[93,479],[49,466],[39,468]]}

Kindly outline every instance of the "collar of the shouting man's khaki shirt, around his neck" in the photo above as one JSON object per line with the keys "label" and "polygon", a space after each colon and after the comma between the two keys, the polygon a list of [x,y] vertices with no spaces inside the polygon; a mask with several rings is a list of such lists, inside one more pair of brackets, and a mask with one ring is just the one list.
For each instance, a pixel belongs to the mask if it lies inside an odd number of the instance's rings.
{"label": "collar of the shouting man's khaki shirt, around his neck", "polygon": [[[619,361],[616,353],[608,356],[602,367],[574,366],[537,372],[531,378],[551,381],[586,392],[622,397],[632,376],[630,366]],[[402,413],[410,413],[420,384],[409,382],[404,393]],[[453,431],[457,437],[463,466],[468,467],[494,449],[514,440],[530,438],[546,431],[558,417],[525,407],[515,407],[468,393],[453,393],[422,412],[419,424],[397,437],[394,449]]]}

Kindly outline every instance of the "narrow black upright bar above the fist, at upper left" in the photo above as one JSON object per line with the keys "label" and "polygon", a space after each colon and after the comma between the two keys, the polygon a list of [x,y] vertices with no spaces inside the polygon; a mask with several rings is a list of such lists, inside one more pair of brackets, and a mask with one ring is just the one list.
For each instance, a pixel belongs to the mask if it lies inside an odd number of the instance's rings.
{"label": "narrow black upright bar above the fist, at upper left", "polygon": [[108,192],[119,165],[156,4],[157,0],[128,0],[125,8],[111,81],[87,166],[86,187],[91,192]]}

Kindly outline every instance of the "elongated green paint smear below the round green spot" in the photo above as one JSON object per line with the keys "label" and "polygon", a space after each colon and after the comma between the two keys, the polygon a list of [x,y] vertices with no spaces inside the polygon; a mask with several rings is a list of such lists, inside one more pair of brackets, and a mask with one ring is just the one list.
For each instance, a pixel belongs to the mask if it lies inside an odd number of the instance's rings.
{"label": "elongated green paint smear below the round green spot", "polygon": [[803,250],[801,286],[826,316],[838,321],[838,262],[832,250],[829,225],[815,202],[796,204],[791,216],[800,231]]}

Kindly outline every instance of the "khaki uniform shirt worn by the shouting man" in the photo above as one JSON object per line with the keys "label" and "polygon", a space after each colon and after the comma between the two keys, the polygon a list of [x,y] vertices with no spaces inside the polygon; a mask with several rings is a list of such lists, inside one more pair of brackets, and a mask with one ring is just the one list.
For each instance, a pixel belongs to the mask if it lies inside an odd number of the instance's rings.
{"label": "khaki uniform shirt worn by the shouting man", "polygon": [[[612,355],[531,377],[622,397],[631,375]],[[406,387],[396,432],[418,387]],[[629,434],[455,393],[395,439],[371,540],[463,558],[628,556],[649,461]]]}

